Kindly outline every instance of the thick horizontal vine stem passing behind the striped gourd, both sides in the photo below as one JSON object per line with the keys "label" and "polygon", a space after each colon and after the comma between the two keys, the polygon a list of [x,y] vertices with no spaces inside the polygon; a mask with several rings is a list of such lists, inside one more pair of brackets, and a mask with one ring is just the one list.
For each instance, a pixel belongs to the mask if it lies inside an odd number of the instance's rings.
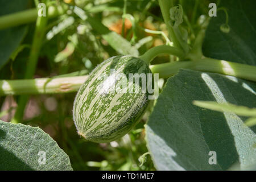
{"label": "thick horizontal vine stem passing behind the striped gourd, both sides", "polygon": [[[250,81],[256,81],[256,67],[224,60],[202,59],[199,61],[176,61],[150,65],[152,73],[168,78],[179,69],[192,69],[202,72],[221,73]],[[76,92],[88,76],[58,78],[36,78],[30,80],[0,80],[0,96],[20,94],[52,94]]]}

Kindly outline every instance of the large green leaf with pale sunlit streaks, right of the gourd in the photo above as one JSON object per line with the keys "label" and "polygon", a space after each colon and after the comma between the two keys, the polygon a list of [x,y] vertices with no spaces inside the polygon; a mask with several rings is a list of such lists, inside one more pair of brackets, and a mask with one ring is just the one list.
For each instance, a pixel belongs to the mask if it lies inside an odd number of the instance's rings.
{"label": "large green leaf with pale sunlit streaks, right of the gourd", "polygon": [[[222,170],[240,162],[256,165],[256,127],[245,117],[212,111],[195,100],[256,106],[255,82],[217,73],[181,69],[168,79],[146,125],[147,145],[155,167],[161,170]],[[217,164],[210,165],[209,152]]]}

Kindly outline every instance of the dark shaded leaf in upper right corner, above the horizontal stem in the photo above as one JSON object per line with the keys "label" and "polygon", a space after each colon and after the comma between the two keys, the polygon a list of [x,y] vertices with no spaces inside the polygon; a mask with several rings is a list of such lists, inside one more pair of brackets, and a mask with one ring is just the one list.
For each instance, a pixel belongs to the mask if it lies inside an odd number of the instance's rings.
{"label": "dark shaded leaf in upper right corner, above the horizontal stem", "polygon": [[222,0],[218,7],[227,10],[230,31],[221,31],[220,27],[225,24],[226,16],[224,11],[217,11],[217,17],[212,17],[207,28],[203,44],[204,55],[256,65],[256,1]]}

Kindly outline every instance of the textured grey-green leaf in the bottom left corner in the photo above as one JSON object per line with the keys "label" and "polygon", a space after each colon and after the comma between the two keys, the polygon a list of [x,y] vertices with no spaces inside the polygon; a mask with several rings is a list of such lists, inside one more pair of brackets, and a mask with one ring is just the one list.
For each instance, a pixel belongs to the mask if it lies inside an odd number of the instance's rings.
{"label": "textured grey-green leaf in the bottom left corner", "polygon": [[39,127],[0,121],[0,156],[0,170],[72,170],[68,155]]}

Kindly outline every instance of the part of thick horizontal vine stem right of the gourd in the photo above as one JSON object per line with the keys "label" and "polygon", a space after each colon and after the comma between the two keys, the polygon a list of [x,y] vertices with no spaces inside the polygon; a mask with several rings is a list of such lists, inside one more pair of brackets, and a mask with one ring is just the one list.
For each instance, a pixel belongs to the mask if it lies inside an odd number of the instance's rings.
{"label": "part of thick horizontal vine stem right of the gourd", "polygon": [[206,58],[199,61],[176,61],[172,63],[150,65],[152,73],[159,73],[159,77],[162,78],[168,78],[175,75],[181,68],[202,72],[220,73],[222,75],[256,81],[255,66],[224,60]]}

